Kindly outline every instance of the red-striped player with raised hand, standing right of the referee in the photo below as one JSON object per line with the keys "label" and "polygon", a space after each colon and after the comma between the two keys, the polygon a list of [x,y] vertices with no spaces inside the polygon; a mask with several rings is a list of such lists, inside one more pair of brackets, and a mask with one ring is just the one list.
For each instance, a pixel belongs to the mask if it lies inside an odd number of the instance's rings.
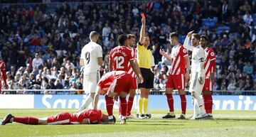
{"label": "red-striped player with raised hand, standing right of the referee", "polygon": [[166,97],[169,104],[169,113],[163,116],[163,119],[175,118],[174,114],[174,98],[172,92],[178,89],[178,94],[181,97],[182,113],[178,119],[186,119],[186,95],[185,95],[185,82],[189,77],[190,60],[188,51],[180,43],[178,43],[178,33],[170,33],[169,40],[174,47],[171,49],[171,57],[167,55],[164,50],[160,50],[160,54],[164,55],[171,61],[171,70],[166,82]]}

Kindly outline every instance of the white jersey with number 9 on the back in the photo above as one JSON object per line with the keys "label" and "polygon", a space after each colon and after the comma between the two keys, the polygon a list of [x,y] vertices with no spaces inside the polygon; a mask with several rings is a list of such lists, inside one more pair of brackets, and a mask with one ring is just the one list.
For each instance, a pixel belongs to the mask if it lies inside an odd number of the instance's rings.
{"label": "white jersey with number 9 on the back", "polygon": [[102,57],[102,47],[97,43],[90,42],[82,48],[81,59],[84,60],[85,74],[100,70],[100,65],[97,62],[98,57]]}

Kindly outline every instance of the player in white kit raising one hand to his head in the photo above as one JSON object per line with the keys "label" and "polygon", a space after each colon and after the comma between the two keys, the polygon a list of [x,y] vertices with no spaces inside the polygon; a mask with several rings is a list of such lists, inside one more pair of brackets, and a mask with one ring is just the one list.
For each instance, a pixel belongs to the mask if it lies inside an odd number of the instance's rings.
{"label": "player in white kit raising one hand to his head", "polygon": [[[189,39],[191,38],[191,45],[188,45]],[[193,116],[191,119],[204,119],[208,115],[203,106],[203,99],[200,97],[203,90],[203,84],[205,80],[204,63],[206,61],[206,55],[199,45],[200,35],[189,32],[184,41],[184,48],[192,51],[192,63],[191,63],[191,80],[188,92],[191,92],[193,99]]]}

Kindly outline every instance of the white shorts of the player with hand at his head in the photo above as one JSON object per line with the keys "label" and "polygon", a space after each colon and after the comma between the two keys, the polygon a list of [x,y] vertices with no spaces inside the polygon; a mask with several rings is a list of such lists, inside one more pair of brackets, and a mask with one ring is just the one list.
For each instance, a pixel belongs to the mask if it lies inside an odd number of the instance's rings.
{"label": "white shorts of the player with hand at his head", "polygon": [[198,93],[199,95],[201,95],[202,90],[203,90],[203,84],[199,83],[198,78],[199,78],[198,72],[192,72],[191,82],[190,82],[190,85],[189,85],[188,92],[193,92],[194,91],[194,92]]}

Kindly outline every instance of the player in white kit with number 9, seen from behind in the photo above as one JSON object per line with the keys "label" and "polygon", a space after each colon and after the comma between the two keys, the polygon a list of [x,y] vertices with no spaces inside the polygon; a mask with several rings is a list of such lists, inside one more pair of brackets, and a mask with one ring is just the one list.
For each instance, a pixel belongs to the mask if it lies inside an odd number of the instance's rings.
{"label": "player in white kit with number 9, seen from behind", "polygon": [[86,109],[93,101],[97,82],[100,81],[100,65],[103,64],[103,59],[102,47],[97,44],[99,35],[96,31],[92,31],[90,33],[90,43],[82,48],[80,57],[80,65],[84,67],[82,86],[85,93],[89,93],[89,95],[85,99],[85,103],[78,109],[78,112]]}

